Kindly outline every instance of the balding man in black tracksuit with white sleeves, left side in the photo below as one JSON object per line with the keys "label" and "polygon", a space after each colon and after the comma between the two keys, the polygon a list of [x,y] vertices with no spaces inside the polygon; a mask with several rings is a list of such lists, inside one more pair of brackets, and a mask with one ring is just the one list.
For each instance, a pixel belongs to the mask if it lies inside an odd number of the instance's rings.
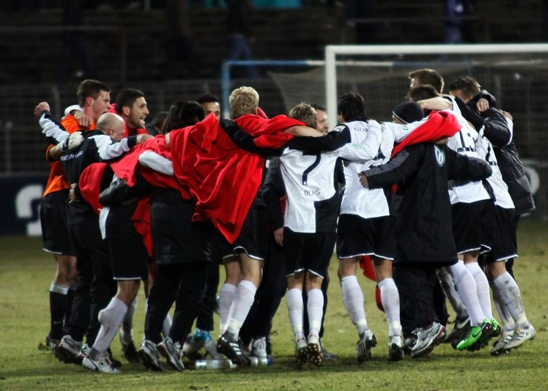
{"label": "balding man in black tracksuit with white sleeves, left side", "polygon": [[[63,138],[70,140],[64,129],[53,121],[49,112],[40,115],[40,126],[45,131],[53,131],[58,136],[60,144]],[[71,201],[69,202],[69,227],[77,252],[77,273],[79,286],[75,291],[71,321],[64,329],[59,350],[64,361],[75,361],[82,349],[84,331],[90,322],[99,323],[99,311],[106,307],[110,298],[116,292],[116,284],[112,279],[110,266],[110,251],[108,244],[101,238],[99,218],[94,207],[82,197],[79,179],[84,169],[98,160],[112,160],[123,155],[126,151],[148,138],[149,135],[140,135],[123,138],[125,125],[123,120],[112,113],[105,113],[99,117],[94,131],[85,134],[84,143],[67,151],[62,158],[66,177],[71,183]],[[74,135],[71,135],[71,137]],[[109,175],[98,178],[101,184],[110,183]],[[95,335],[88,333],[88,344],[95,342]],[[107,346],[108,349],[108,346]],[[103,355],[101,362],[105,370],[115,372],[109,355]]]}

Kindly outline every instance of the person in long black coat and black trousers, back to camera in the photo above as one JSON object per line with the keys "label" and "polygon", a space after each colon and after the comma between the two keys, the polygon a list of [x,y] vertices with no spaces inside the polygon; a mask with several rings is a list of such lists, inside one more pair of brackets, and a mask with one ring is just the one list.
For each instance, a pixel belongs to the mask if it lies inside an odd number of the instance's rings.
{"label": "person in long black coat and black trousers, back to camera", "polygon": [[[453,133],[458,127],[453,127]],[[439,138],[438,143],[447,140]],[[402,144],[402,143],[401,143]],[[384,188],[403,181],[397,192],[401,201],[396,212],[395,266],[405,270],[406,292],[416,297],[420,328],[412,357],[421,357],[443,338],[444,327],[436,322],[432,277],[438,267],[447,266],[456,275],[467,272],[459,266],[451,232],[451,203],[448,180],[480,180],[490,175],[490,166],[481,160],[464,157],[443,144],[421,142],[393,155],[381,166],[360,174],[366,188]],[[464,270],[462,270],[464,268]],[[470,278],[461,289],[473,288]],[[398,287],[400,289],[402,286]]]}

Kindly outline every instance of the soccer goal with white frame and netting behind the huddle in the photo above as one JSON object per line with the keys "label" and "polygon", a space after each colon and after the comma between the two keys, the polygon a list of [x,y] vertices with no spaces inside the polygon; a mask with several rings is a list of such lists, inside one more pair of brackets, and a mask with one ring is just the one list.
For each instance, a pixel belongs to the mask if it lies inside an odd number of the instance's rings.
{"label": "soccer goal with white frame and netting behind the huddle", "polygon": [[370,118],[391,121],[409,90],[408,74],[419,68],[443,75],[444,93],[451,81],[473,76],[512,114],[514,140],[535,192],[534,216],[547,218],[548,44],[327,46],[323,66],[270,75],[287,111],[301,101],[320,103],[334,126],[338,97],[349,91],[362,94]]}

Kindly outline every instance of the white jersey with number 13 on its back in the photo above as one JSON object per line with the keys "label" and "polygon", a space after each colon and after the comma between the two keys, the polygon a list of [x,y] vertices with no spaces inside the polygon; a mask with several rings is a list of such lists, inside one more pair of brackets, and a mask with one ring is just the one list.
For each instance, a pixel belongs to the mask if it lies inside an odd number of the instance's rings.
{"label": "white jersey with number 13 on its back", "polygon": [[[479,134],[474,127],[464,119],[456,101],[452,97],[450,97],[450,99],[451,103],[453,103],[453,110],[449,110],[449,112],[456,116],[461,125],[461,129],[454,136],[449,138],[447,147],[461,155],[481,159],[475,150],[475,142],[477,138],[479,138]],[[473,203],[490,199],[489,193],[484,188],[482,181],[449,181],[449,198],[451,199],[451,204],[458,202]]]}

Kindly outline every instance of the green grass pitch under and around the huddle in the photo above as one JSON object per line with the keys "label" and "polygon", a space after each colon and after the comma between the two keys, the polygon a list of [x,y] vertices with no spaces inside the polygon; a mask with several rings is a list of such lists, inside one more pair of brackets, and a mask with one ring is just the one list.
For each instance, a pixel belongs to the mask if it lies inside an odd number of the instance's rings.
{"label": "green grass pitch under and around the huddle", "polygon": [[[62,364],[51,352],[39,349],[49,329],[48,292],[55,270],[53,257],[41,250],[40,238],[3,236],[0,237],[0,390],[546,390],[547,236],[547,223],[536,220],[520,223],[520,257],[514,273],[527,316],[537,334],[534,342],[525,342],[521,348],[500,357],[490,356],[488,349],[458,352],[443,344],[426,358],[406,357],[402,362],[388,362],[388,326],[375,305],[375,284],[360,278],[368,323],[379,344],[373,349],[371,361],[358,364],[354,347],[358,337],[341,301],[336,260],[332,260],[323,342],[329,351],[339,355],[338,361],[324,362],[320,368],[295,368],[292,332],[286,303],[282,301],[273,325],[275,363],[271,366],[184,373],[167,368],[163,373],[152,373],[140,364],[122,360],[116,338],[112,351],[123,362],[121,375],[96,374],[81,366]],[[134,320],[137,342],[142,338],[144,303],[141,293]]]}

